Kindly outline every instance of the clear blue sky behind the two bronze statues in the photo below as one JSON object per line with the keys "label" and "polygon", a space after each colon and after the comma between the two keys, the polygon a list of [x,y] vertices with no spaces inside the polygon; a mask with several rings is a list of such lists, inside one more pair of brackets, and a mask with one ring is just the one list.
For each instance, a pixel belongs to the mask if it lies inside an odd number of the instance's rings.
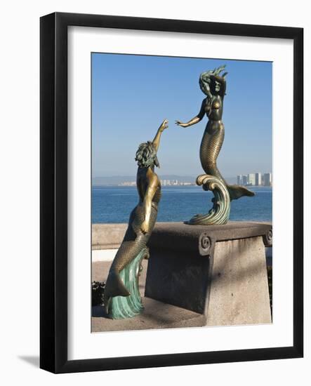
{"label": "clear blue sky behind the two bronze statues", "polygon": [[202,173],[199,146],[207,123],[188,128],[205,95],[199,74],[227,65],[218,168],[225,177],[272,170],[272,63],[145,55],[92,54],[93,177],[135,175],[135,152],[164,118],[159,174]]}

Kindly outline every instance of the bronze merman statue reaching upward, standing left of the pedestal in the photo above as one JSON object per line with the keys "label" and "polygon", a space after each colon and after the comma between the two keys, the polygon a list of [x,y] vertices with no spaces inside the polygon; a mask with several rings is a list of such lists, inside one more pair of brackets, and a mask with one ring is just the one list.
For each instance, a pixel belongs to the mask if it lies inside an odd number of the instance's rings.
{"label": "bronze merman statue reaching upward, standing left of the pedestal", "polygon": [[161,184],[154,166],[159,167],[157,150],[161,133],[168,127],[164,119],[152,142],[140,144],[136,185],[139,202],[131,212],[128,228],[115,256],[105,284],[104,305],[107,317],[125,319],[140,314],[143,304],[138,288],[141,261],[148,258],[147,241],[157,220]]}

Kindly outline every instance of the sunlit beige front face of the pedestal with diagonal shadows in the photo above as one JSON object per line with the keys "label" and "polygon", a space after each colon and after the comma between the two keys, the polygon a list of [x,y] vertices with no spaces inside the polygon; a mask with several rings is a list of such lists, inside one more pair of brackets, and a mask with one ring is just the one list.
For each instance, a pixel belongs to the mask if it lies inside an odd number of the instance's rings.
{"label": "sunlit beige front face of the pedestal with diagonal shadows", "polygon": [[207,326],[271,323],[262,237],[216,243]]}

